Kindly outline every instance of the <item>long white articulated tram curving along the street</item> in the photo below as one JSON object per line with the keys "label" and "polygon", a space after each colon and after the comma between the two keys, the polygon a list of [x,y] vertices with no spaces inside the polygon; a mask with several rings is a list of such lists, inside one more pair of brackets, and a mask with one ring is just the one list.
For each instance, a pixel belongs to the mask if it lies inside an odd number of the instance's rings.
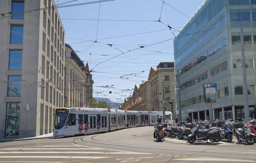
{"label": "long white articulated tram curving along the street", "polygon": [[[167,115],[171,112],[166,112]],[[114,131],[133,126],[154,125],[163,112],[125,111],[103,108],[58,108],[55,110],[54,136],[73,136]]]}

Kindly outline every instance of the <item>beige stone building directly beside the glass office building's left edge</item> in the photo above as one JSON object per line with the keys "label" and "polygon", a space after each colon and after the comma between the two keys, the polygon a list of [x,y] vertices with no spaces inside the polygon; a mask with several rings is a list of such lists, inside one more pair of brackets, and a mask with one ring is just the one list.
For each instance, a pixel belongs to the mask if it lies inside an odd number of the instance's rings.
{"label": "beige stone building directly beside the glass office building's left edge", "polygon": [[[150,90],[152,110],[163,111],[162,101],[164,101],[166,111],[170,111],[169,102],[172,101],[172,98],[174,98],[175,104],[174,62],[160,62],[157,67],[151,67],[148,75],[148,81],[150,82],[151,88]],[[174,108],[176,118],[176,107],[174,106]]]}

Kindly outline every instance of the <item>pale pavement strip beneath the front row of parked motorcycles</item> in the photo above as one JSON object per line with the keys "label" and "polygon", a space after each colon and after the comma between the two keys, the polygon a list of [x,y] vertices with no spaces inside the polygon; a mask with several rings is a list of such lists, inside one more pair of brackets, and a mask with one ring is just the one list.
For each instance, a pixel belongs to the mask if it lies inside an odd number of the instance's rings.
{"label": "pale pavement strip beneath the front row of parked motorcycles", "polygon": [[[190,144],[187,140],[180,140],[176,138],[165,138],[165,141],[170,141],[172,143],[180,143],[180,144]],[[193,143],[194,145],[211,145],[211,146],[234,146],[236,145],[236,142],[225,142],[225,141],[220,141],[218,143],[212,143],[211,141],[195,141]]]}

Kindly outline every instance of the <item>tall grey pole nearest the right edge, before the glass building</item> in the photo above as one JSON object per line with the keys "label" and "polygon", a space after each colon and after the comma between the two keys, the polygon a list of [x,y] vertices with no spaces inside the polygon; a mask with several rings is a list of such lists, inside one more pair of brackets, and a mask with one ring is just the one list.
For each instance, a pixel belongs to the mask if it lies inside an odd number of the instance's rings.
{"label": "tall grey pole nearest the right edge, before the glass building", "polygon": [[241,35],[241,51],[242,51],[242,73],[243,73],[243,94],[244,94],[244,118],[249,121],[249,102],[248,102],[248,90],[247,90],[247,79],[246,79],[246,67],[245,67],[245,56],[244,56],[244,33],[243,28],[240,28]]}

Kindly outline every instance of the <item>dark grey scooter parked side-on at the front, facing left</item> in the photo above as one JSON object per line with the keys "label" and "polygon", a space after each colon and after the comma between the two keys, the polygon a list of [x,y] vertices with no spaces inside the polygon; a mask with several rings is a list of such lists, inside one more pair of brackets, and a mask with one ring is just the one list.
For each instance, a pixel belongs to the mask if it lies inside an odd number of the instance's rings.
{"label": "dark grey scooter parked side-on at the front, facing left", "polygon": [[[199,124],[194,124],[191,129],[191,134],[188,137],[189,143],[194,143],[196,140],[207,141],[211,139],[214,142],[221,141],[220,129],[213,127],[211,129],[199,129],[201,121]],[[207,122],[206,122],[207,123]]]}

